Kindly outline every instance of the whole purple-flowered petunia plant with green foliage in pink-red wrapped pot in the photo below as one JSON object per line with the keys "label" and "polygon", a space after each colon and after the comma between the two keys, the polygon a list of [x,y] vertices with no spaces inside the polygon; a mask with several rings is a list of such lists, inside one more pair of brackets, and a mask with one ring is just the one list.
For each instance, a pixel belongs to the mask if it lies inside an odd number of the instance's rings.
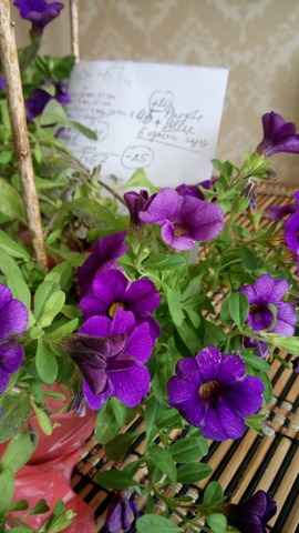
{"label": "whole purple-flowered petunia plant with green foliage in pink-red wrapped pot", "polygon": [[[102,486],[115,491],[106,515],[111,533],[128,531],[133,519],[141,533],[266,532],[276,513],[266,492],[236,505],[210,482],[195,505],[177,496],[175,485],[210,475],[200,462],[207,440],[237,440],[247,428],[262,432],[259,410],[271,400],[276,349],[299,351],[292,303],[298,198],[282,211],[274,207],[267,228],[259,229],[255,210],[256,188],[275,177],[268,158],[299,152],[295,125],[266,113],[264,138],[241,167],[215,160],[217,179],[176,189],[154,188],[140,169],[123,195],[60,137],[66,127],[93,137],[70,123],[63,108],[74,59],[39,56],[44,27],[63,6],[14,4],[32,23],[31,44],[19,51],[19,61],[42,241],[32,238],[34,198],[29,205],[20,181],[4,76],[0,531],[94,531],[69,486],[79,446],[94,431],[121,460],[140,436],[122,429],[138,415],[145,421],[144,453],[99,475]],[[130,190],[136,187],[140,192]],[[278,234],[277,221],[286,214]],[[198,260],[190,262],[197,243]],[[141,482],[144,469],[147,483]],[[146,497],[141,517],[136,494]],[[164,503],[162,515],[153,514],[156,500]]]}

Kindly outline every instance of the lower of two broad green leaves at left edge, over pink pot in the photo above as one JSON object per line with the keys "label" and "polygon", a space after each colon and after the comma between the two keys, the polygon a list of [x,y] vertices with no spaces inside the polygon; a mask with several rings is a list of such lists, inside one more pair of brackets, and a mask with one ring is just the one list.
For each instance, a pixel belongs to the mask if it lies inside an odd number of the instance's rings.
{"label": "lower of two broad green leaves at left edge, over pink pot", "polygon": [[10,441],[2,455],[1,465],[16,473],[30,460],[34,449],[29,430],[21,431]]}

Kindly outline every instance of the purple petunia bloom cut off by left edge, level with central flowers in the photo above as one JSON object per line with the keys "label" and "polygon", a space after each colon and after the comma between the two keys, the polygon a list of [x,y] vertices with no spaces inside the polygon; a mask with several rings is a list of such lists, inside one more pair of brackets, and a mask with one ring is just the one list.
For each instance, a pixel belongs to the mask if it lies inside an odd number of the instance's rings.
{"label": "purple petunia bloom cut off by left edge, level with central flowers", "polygon": [[0,393],[9,384],[9,375],[22,364],[23,348],[17,344],[13,335],[24,333],[28,324],[28,310],[22,302],[12,298],[11,290],[0,285]]}

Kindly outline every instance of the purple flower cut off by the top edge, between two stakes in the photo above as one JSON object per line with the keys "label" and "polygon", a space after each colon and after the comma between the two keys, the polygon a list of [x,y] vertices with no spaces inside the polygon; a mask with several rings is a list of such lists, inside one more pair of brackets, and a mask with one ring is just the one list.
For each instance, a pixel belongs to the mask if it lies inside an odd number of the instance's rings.
{"label": "purple flower cut off by the top edge, between two stakes", "polygon": [[40,37],[49,22],[59,17],[64,8],[61,2],[50,2],[45,0],[14,0],[14,6],[20,9],[22,19],[32,22],[32,32]]}

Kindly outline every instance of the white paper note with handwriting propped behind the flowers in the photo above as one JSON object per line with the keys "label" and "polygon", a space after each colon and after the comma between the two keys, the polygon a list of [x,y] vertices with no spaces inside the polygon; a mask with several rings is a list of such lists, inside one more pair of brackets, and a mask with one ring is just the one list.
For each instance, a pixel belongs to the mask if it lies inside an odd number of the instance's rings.
{"label": "white paper note with handwriting propped behind the flowers", "polygon": [[81,61],[70,81],[64,140],[89,168],[122,182],[144,168],[158,187],[212,177],[227,84],[226,69],[163,63]]}

